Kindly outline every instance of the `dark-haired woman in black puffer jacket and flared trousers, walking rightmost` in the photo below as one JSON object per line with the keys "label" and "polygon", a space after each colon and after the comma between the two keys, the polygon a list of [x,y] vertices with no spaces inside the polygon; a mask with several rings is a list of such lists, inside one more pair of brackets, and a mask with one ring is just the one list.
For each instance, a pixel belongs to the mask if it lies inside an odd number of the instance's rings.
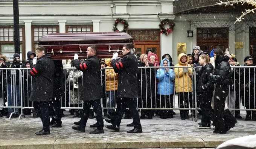
{"label": "dark-haired woman in black puffer jacket and flared trousers, walking rightmost", "polygon": [[214,50],[215,70],[211,79],[216,84],[214,95],[214,117],[213,125],[215,125],[214,133],[226,134],[230,128],[235,126],[236,120],[229,110],[224,110],[226,97],[229,93],[229,73],[232,73],[229,65],[229,57],[224,56],[221,49]]}

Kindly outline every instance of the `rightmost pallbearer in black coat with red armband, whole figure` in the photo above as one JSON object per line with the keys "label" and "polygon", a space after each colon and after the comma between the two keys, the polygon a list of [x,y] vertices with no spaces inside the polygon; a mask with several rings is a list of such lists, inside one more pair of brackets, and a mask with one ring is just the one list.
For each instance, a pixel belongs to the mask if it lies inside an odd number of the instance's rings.
{"label": "rightmost pallbearer in black coat with red armband, whole figure", "polygon": [[114,53],[111,61],[114,71],[119,74],[117,97],[120,98],[120,100],[117,101],[115,119],[111,119],[110,121],[106,120],[107,122],[112,123],[112,125],[107,125],[106,128],[119,131],[119,126],[125,109],[129,107],[133,117],[134,129],[127,131],[127,133],[141,133],[142,128],[136,104],[136,98],[138,97],[138,61],[133,54],[133,45],[124,45],[122,52],[124,57],[120,61],[117,61],[117,53]]}

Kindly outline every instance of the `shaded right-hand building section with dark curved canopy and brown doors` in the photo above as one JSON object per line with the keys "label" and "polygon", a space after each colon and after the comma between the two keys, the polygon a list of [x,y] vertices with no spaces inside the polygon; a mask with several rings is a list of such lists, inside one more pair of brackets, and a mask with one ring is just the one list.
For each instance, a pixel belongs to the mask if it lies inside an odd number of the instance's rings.
{"label": "shaded right-hand building section with dark curved canopy and brown doors", "polygon": [[[256,60],[255,51],[255,15],[248,14],[240,23],[235,23],[245,9],[251,5],[235,4],[233,6],[216,5],[219,0],[177,0],[174,2],[175,29],[173,45],[186,43],[187,53],[199,45],[201,50],[210,52],[213,48],[226,50],[235,54],[240,65],[244,57],[251,55]],[[222,2],[226,2],[222,0]],[[235,23],[235,24],[234,24]],[[183,30],[192,30],[193,37],[187,38]],[[177,33],[180,32],[180,33]],[[173,47],[174,48],[174,47]],[[175,57],[176,52],[173,54]],[[255,63],[256,61],[254,61]]]}

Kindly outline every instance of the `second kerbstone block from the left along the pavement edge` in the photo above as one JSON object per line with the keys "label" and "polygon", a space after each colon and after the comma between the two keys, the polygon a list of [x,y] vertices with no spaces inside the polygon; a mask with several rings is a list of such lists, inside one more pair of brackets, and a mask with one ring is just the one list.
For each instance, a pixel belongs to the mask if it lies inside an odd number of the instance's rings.
{"label": "second kerbstone block from the left along the pavement edge", "polygon": [[108,138],[61,139],[56,140],[53,149],[106,149]]}

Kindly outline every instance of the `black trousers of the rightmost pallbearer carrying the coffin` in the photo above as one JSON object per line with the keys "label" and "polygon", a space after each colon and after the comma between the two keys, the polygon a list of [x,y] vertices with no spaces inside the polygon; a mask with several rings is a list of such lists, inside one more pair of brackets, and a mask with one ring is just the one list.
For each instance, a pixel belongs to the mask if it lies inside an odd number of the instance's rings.
{"label": "black trousers of the rightmost pallbearer carrying the coffin", "polygon": [[120,126],[125,109],[128,107],[131,111],[131,116],[133,117],[134,128],[141,128],[136,100],[136,98],[120,98],[120,101],[117,102],[114,125]]}

